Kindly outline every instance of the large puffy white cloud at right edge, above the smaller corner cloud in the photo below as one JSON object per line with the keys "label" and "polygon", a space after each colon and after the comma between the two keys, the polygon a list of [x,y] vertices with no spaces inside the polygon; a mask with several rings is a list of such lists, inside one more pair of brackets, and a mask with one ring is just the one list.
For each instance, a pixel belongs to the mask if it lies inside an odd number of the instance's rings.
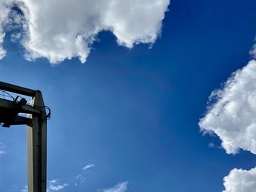
{"label": "large puffy white cloud at right edge, above the smaller corner cloud", "polygon": [[256,154],[256,61],[233,73],[210,101],[215,102],[200,119],[201,130],[217,134],[227,153],[243,149]]}

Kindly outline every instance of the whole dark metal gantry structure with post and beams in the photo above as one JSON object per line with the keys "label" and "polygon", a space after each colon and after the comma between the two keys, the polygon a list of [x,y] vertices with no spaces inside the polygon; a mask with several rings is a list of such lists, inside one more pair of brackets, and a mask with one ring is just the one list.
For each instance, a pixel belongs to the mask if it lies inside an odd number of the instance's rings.
{"label": "whole dark metal gantry structure with post and beams", "polygon": [[[3,127],[27,126],[29,192],[46,192],[47,118],[49,114],[46,114],[42,93],[6,82],[0,82],[0,90],[5,96],[11,96],[8,92],[12,92],[32,98],[30,104],[27,104],[26,99],[20,96],[12,97],[12,100],[5,99],[4,96],[0,98],[0,123]],[[20,113],[25,113],[27,116],[24,117]]]}

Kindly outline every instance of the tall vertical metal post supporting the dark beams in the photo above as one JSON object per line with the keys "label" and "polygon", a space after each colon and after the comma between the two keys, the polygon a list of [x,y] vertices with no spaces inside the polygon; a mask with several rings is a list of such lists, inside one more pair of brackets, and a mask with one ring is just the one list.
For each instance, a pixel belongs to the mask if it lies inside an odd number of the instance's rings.
{"label": "tall vertical metal post supporting the dark beams", "polygon": [[39,108],[42,114],[29,115],[32,127],[27,127],[28,188],[29,192],[46,192],[47,118],[40,91],[36,91],[31,104]]}

